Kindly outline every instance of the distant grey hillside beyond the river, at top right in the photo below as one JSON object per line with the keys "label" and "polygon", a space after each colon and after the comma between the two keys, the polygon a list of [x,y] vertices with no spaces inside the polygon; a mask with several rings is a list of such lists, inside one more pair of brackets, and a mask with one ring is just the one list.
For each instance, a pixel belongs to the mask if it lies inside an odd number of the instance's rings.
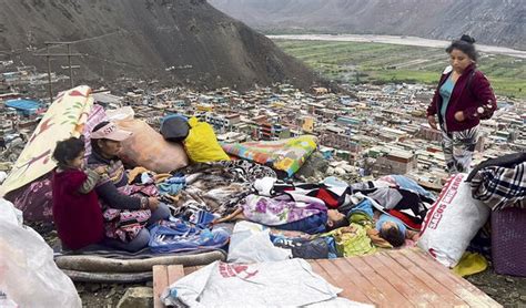
{"label": "distant grey hillside beyond the river, at top right", "polygon": [[526,50],[524,0],[209,0],[271,32],[347,32],[454,39]]}

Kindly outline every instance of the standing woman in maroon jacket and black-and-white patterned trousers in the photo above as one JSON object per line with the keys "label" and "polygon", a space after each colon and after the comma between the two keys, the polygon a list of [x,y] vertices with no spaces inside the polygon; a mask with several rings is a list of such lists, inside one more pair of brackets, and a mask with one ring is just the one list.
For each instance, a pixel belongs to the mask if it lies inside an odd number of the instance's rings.
{"label": "standing woman in maroon jacket and black-and-white patterned trousers", "polygon": [[451,65],[442,73],[427,121],[442,131],[442,148],[449,174],[469,171],[478,140],[481,120],[489,119],[497,109],[489,81],[476,69],[478,54],[475,40],[462,35],[446,49]]}

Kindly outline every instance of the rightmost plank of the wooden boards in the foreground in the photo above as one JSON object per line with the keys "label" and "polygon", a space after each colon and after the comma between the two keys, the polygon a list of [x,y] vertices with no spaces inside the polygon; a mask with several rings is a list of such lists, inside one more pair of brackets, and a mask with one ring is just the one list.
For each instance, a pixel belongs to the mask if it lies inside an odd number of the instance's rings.
{"label": "rightmost plank of the wooden boards in the foreground", "polygon": [[443,266],[432,257],[425,256],[422,253],[417,254],[414,250],[406,250],[402,253],[406,256],[411,256],[414,263],[426,263],[424,270],[436,271],[437,274],[435,275],[437,276],[437,278],[439,278],[446,287],[457,294],[471,306],[502,307],[502,305],[499,305],[485,292],[472,285],[469,281],[454,275],[447,267]]}

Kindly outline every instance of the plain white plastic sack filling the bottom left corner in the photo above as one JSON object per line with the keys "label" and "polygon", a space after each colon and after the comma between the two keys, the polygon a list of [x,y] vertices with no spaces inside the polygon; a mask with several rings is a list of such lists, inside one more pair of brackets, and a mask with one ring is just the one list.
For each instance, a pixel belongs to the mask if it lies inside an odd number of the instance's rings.
{"label": "plain white plastic sack filling the bottom left corner", "polygon": [[71,279],[54,264],[53,250],[20,211],[0,198],[0,294],[19,307],[81,307]]}

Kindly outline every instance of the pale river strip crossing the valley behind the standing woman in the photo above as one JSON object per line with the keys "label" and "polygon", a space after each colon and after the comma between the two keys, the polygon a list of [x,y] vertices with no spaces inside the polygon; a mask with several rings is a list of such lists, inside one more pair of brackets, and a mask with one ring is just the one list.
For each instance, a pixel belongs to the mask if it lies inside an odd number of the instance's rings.
{"label": "pale river strip crossing the valley behind the standing woman", "polygon": [[[297,40],[297,41],[333,41],[333,42],[367,42],[385,43],[398,45],[431,47],[445,49],[451,41],[429,40],[416,37],[396,37],[396,35],[372,35],[372,34],[286,34],[286,35],[266,35],[272,40]],[[494,54],[505,54],[526,59],[526,51],[504,47],[493,47],[476,44],[478,51]]]}

